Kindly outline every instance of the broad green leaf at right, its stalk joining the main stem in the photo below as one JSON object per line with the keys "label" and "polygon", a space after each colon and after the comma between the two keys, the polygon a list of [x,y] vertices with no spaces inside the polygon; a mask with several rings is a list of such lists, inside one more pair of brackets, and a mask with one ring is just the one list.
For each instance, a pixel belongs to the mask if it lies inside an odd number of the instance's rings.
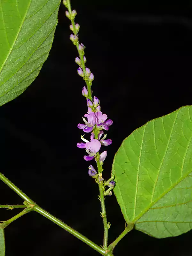
{"label": "broad green leaf at right, its stalk joining the main stem", "polygon": [[192,228],[192,106],[154,119],[127,137],[112,172],[127,223],[157,238]]}

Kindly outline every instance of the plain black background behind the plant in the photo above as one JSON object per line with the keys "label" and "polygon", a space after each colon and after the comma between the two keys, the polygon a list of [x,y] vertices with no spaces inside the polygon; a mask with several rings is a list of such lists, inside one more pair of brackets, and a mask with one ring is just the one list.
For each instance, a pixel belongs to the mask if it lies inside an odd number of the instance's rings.
{"label": "plain black background behind the plant", "polygon": [[[114,121],[108,132],[103,176],[110,176],[121,142],[147,121],[192,104],[191,1],[73,0],[87,67],[95,76],[93,95]],[[37,204],[96,244],[102,244],[98,188],[88,176],[90,163],[76,147],[86,103],[77,75],[76,48],[69,20],[60,6],[59,23],[39,76],[19,98],[0,108],[1,172]],[[22,200],[0,182],[1,204]],[[106,198],[109,242],[125,221],[115,196]],[[0,219],[18,210],[0,210]],[[36,212],[5,229],[6,256],[99,255]],[[133,230],[114,250],[117,255],[191,255],[192,232],[156,239]]]}

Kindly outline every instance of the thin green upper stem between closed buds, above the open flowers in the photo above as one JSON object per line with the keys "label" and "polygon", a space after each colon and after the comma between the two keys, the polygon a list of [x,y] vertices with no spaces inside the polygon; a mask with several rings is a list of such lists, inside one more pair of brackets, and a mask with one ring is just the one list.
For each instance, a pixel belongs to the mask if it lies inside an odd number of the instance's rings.
{"label": "thin green upper stem between closed buds, above the open flowers", "polygon": [[[72,10],[71,10],[71,3],[70,3],[70,0],[67,0],[67,4],[68,4],[68,12],[69,14],[71,15],[72,13]],[[71,20],[71,24],[73,26],[73,33],[74,35],[77,35],[77,30],[76,30],[76,27],[75,27],[75,21],[74,20]],[[76,43],[76,48],[77,48],[77,51],[79,53],[79,57],[81,59],[81,65],[82,65],[82,69],[83,69],[83,72],[85,74],[85,62],[84,62],[84,53],[82,53],[82,51],[79,50],[79,42]],[[87,85],[87,90],[88,90],[88,99],[92,100],[92,92],[91,92],[91,82],[89,82],[88,79],[85,80],[85,83]]]}

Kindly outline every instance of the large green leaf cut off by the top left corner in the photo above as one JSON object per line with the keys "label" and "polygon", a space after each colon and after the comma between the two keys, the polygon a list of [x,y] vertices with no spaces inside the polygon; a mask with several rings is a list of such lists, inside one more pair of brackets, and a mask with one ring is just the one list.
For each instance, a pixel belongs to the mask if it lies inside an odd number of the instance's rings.
{"label": "large green leaf cut off by the top left corner", "polygon": [[34,81],[52,46],[60,0],[0,0],[0,106]]}

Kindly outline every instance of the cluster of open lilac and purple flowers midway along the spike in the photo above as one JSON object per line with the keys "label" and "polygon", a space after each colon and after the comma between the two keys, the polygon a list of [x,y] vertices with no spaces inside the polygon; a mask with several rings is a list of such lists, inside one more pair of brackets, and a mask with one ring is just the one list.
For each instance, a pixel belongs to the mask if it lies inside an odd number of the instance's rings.
{"label": "cluster of open lilac and purple flowers midway along the spike", "polygon": [[[87,89],[84,87],[82,91],[83,95],[87,95]],[[88,112],[84,115],[83,121],[85,124],[78,124],[77,127],[81,130],[83,130],[86,133],[91,132],[91,138],[90,141],[84,139],[83,136],[81,136],[81,139],[85,142],[79,142],[77,143],[78,148],[85,148],[87,152],[87,156],[84,156],[85,161],[91,161],[93,158],[96,157],[97,152],[99,152],[101,145],[108,146],[112,143],[111,139],[107,139],[107,134],[104,134],[102,131],[103,129],[108,131],[109,126],[113,124],[113,121],[111,119],[107,119],[107,115],[103,114],[100,111],[100,105],[99,105],[99,99],[94,96],[93,102],[89,99],[87,99],[87,107]],[[97,132],[98,136],[95,138],[95,131]],[[104,136],[103,136],[104,135]],[[103,136],[103,137],[102,137]],[[107,156],[107,151],[103,151],[100,154],[99,161],[102,165],[105,158]]]}

